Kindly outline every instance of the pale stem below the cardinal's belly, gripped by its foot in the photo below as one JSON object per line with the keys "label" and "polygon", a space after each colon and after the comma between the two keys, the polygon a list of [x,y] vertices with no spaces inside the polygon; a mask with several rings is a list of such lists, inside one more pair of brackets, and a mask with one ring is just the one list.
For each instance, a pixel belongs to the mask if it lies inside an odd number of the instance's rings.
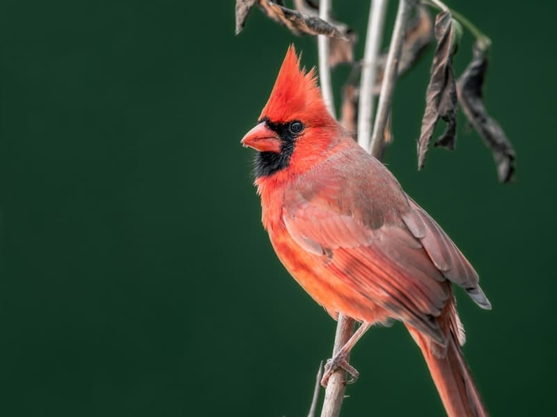
{"label": "pale stem below the cardinal's belly, gripped by its foot", "polygon": [[[354,319],[339,314],[332,357],[345,345],[353,333]],[[348,359],[350,359],[350,357],[346,358],[346,360]],[[346,373],[344,370],[338,369],[329,378],[329,384],[327,384],[327,389],[325,390],[321,417],[338,417],[340,414],[340,407],[343,405],[345,391]]]}

